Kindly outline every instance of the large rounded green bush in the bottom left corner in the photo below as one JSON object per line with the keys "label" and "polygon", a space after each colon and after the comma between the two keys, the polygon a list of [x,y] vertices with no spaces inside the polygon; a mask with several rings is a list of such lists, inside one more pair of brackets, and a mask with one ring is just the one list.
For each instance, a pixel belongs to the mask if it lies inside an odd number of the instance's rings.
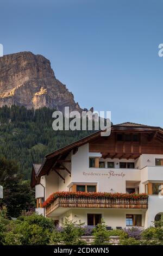
{"label": "large rounded green bush in the bottom left corner", "polygon": [[48,245],[51,240],[53,222],[41,215],[20,217],[6,225],[4,245]]}

